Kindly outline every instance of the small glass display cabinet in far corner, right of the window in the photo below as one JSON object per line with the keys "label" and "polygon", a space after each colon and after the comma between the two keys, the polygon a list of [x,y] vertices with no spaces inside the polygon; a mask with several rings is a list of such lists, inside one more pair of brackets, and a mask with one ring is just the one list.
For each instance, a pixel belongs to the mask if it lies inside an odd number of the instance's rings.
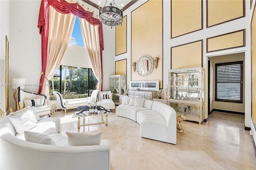
{"label": "small glass display cabinet in far corner, right of the window", "polygon": [[125,75],[110,75],[109,76],[109,90],[112,91],[112,99],[116,105],[120,105],[120,95],[124,94]]}

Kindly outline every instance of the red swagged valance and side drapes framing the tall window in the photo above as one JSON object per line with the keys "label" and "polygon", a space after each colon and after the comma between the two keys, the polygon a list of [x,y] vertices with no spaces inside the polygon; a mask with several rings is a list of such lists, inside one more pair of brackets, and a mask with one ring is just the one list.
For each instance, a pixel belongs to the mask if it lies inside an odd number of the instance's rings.
{"label": "red swagged valance and side drapes framing the tall window", "polygon": [[[48,45],[48,33],[49,33],[49,8],[52,6],[56,11],[62,14],[73,14],[78,18],[85,19],[90,24],[96,26],[99,25],[99,36],[100,36],[100,56],[102,58],[102,50],[104,50],[103,44],[103,32],[102,32],[102,24],[100,20],[94,18],[92,12],[84,10],[82,6],[78,3],[68,3],[66,0],[42,0],[39,17],[38,17],[38,25],[39,34],[41,34],[41,48],[42,48],[42,72],[40,78],[40,86],[38,89],[38,94],[42,93],[42,87],[44,83],[44,73],[46,71],[46,59],[47,59],[47,45]],[[102,65],[102,59],[101,59]]]}

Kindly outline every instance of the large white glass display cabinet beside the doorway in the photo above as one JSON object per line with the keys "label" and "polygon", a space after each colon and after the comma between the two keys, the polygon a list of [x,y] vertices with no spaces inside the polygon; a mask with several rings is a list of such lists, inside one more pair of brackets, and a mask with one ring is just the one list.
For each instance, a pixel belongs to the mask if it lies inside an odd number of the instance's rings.
{"label": "large white glass display cabinet beside the doorway", "polygon": [[168,105],[188,121],[204,121],[204,68],[168,70]]}

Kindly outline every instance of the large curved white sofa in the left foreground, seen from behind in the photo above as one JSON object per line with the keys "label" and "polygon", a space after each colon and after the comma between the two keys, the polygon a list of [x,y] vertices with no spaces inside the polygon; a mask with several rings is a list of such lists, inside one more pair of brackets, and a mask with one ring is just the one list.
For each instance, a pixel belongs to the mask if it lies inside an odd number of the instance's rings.
{"label": "large curved white sofa in the left foreground, seen from behind", "polygon": [[29,142],[24,140],[24,134],[16,132],[9,117],[0,120],[1,170],[110,169],[108,140],[101,140],[100,145],[94,146],[67,146],[67,137],[58,133],[60,119],[37,116],[36,127],[28,131],[46,134],[55,144]]}

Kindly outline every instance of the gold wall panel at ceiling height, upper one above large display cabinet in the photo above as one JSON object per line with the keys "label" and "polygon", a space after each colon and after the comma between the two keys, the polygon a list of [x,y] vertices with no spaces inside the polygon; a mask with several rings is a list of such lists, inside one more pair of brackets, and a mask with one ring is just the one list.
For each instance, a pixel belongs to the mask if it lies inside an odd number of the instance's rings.
{"label": "gold wall panel at ceiling height, upper one above large display cabinet", "polygon": [[202,30],[202,0],[171,1],[171,38]]}

